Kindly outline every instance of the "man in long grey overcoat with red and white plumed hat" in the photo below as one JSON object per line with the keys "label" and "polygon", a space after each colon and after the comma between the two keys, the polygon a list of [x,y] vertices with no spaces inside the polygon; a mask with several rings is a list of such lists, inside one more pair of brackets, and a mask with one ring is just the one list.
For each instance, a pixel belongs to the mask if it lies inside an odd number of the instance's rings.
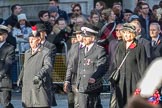
{"label": "man in long grey overcoat with red and white plumed hat", "polygon": [[31,48],[25,52],[24,65],[17,81],[18,86],[22,82],[22,104],[25,108],[50,108],[51,50],[41,45],[41,33],[37,28],[32,30],[29,44]]}

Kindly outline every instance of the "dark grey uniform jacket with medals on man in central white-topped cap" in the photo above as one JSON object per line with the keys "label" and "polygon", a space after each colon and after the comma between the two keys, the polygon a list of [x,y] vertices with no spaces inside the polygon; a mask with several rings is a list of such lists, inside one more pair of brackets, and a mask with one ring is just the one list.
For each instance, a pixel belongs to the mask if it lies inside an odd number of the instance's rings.
{"label": "dark grey uniform jacket with medals on man in central white-topped cap", "polygon": [[[100,93],[102,90],[102,77],[106,73],[107,56],[103,47],[94,43],[85,54],[85,48],[79,52],[77,88],[81,93]],[[96,82],[89,84],[89,78]]]}

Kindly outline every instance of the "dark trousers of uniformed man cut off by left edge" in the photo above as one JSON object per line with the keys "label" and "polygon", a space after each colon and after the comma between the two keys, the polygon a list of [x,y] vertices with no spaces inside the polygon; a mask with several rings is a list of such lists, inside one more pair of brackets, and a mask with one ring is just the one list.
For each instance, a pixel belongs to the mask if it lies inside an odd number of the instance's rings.
{"label": "dark trousers of uniformed man cut off by left edge", "polygon": [[10,103],[11,101],[11,91],[0,90],[0,103],[3,108],[14,108]]}

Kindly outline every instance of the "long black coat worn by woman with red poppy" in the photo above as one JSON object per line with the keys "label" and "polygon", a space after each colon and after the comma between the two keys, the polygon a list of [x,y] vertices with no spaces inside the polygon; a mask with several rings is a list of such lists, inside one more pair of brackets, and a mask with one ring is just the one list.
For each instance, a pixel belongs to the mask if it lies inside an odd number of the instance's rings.
{"label": "long black coat worn by woman with red poppy", "polygon": [[117,68],[125,57],[126,52],[130,51],[120,69],[120,79],[117,85],[118,89],[116,89],[119,108],[124,107],[128,97],[135,91],[136,84],[143,76],[147,66],[147,56],[144,46],[137,41],[134,42],[136,47],[132,49],[128,48],[127,50],[125,42],[119,43],[115,55],[115,67]]}

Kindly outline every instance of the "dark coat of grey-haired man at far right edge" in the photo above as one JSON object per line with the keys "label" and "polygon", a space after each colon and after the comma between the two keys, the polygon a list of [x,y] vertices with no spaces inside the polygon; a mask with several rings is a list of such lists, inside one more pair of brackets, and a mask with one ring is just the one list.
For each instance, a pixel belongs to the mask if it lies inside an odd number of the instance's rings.
{"label": "dark coat of grey-haired man at far right edge", "polygon": [[157,57],[162,57],[162,37],[160,36],[156,45],[152,47],[152,60]]}

